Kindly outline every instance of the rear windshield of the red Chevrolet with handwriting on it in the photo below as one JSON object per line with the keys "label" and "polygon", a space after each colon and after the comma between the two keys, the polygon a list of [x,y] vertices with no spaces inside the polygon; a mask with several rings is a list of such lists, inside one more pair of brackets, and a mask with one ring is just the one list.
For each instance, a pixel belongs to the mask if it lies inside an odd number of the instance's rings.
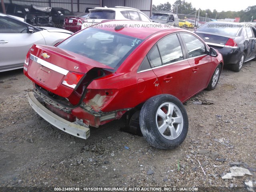
{"label": "rear windshield of the red Chevrolet with handwriting on it", "polygon": [[57,47],[117,69],[142,41],[98,28],[87,28]]}

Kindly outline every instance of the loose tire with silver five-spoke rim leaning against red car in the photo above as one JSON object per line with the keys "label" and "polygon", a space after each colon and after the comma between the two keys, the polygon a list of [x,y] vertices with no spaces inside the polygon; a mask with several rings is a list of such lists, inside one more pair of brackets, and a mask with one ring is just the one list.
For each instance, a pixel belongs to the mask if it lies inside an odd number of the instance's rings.
{"label": "loose tire with silver five-spoke rim leaning against red car", "polygon": [[140,129],[147,142],[155,148],[176,148],[188,133],[186,109],[172,95],[154,96],[142,106]]}

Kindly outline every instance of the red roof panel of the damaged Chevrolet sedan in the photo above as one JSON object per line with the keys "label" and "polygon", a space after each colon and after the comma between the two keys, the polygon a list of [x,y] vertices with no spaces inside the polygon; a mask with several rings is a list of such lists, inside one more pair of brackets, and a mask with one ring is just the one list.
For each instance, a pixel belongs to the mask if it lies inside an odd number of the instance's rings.
{"label": "red roof panel of the damaged Chevrolet sedan", "polygon": [[[115,26],[124,26],[119,30],[115,30]],[[137,26],[137,27],[136,27]],[[93,28],[102,28],[110,32],[118,32],[123,35],[132,36],[134,38],[146,39],[152,34],[161,32],[163,30],[171,30],[173,32],[186,31],[181,28],[166,27],[160,23],[134,21],[134,20],[112,20],[96,24]],[[132,30],[131,30],[132,29]]]}

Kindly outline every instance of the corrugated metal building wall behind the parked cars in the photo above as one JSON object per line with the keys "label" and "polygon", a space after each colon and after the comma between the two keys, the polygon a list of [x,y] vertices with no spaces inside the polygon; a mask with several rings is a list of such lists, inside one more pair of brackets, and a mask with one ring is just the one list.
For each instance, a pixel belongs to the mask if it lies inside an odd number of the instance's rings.
{"label": "corrugated metal building wall behind the parked cars", "polygon": [[62,7],[72,12],[83,12],[85,8],[126,6],[141,10],[147,16],[152,12],[152,0],[4,0],[5,3],[35,4],[48,7]]}

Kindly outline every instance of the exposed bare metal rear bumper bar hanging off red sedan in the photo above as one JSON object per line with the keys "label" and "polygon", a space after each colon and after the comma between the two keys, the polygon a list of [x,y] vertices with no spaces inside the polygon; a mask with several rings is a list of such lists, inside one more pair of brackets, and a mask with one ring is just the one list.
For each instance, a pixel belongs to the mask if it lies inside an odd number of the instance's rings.
{"label": "exposed bare metal rear bumper bar hanging off red sedan", "polygon": [[35,98],[33,92],[28,92],[28,102],[37,114],[60,130],[83,139],[87,139],[90,136],[90,129],[88,127],[74,124],[54,114]]}

